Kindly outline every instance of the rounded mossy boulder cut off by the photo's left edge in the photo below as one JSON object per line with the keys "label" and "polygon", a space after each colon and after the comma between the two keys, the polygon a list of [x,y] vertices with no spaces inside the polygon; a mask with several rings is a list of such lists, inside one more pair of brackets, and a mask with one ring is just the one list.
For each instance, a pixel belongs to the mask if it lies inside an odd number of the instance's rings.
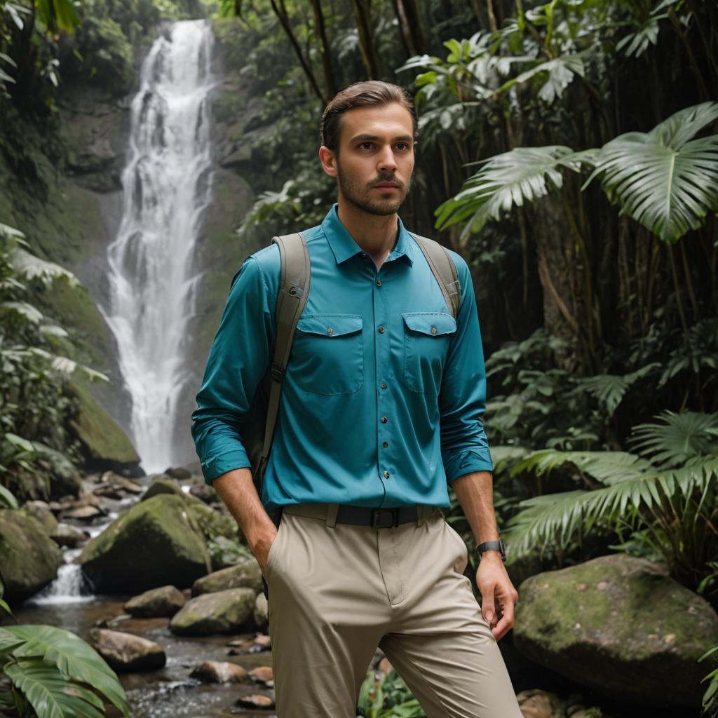
{"label": "rounded mossy boulder cut off by the photo's left edge", "polygon": [[60,565],[62,553],[37,518],[0,510],[0,576],[6,600],[19,602],[45,588]]}

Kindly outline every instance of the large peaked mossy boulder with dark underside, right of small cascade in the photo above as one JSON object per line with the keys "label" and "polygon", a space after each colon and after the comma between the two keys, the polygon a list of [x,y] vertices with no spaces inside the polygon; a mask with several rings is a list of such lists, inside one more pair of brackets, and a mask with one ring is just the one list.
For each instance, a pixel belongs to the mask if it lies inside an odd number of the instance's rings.
{"label": "large peaked mossy boulder with dark underside, right of small cascade", "polygon": [[96,591],[127,594],[190,586],[210,571],[210,556],[185,500],[162,495],[116,518],[85,546],[80,564]]}

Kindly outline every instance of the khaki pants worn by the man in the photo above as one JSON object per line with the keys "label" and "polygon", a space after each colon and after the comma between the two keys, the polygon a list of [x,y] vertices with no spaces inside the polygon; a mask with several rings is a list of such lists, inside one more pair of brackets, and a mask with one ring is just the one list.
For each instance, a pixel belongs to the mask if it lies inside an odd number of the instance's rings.
{"label": "khaki pants worn by the man", "polygon": [[436,508],[369,528],[285,507],[266,567],[278,718],[355,718],[377,645],[429,718],[522,718],[466,565]]}

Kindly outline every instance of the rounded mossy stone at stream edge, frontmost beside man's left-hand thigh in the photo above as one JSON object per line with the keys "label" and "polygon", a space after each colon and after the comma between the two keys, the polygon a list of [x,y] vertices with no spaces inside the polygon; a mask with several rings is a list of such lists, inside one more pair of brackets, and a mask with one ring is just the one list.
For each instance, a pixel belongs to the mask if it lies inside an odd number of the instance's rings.
{"label": "rounded mossy stone at stream edge, frontmost beside man's left-hand thigh", "polygon": [[232,588],[205,593],[185,604],[169,622],[169,630],[179,635],[235,633],[251,627],[254,591]]}

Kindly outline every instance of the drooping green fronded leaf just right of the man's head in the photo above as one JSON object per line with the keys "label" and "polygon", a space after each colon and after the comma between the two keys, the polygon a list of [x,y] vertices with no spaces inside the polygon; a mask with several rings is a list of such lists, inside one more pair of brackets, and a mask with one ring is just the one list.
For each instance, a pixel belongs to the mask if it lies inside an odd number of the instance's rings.
{"label": "drooping green fronded leaf just right of the man's head", "polygon": [[577,172],[582,162],[590,161],[592,151],[574,152],[562,145],[516,147],[491,157],[458,195],[437,209],[436,226],[442,229],[468,220],[462,238],[470,231],[478,232],[490,218],[498,220],[502,213],[561,187],[561,168]]}

